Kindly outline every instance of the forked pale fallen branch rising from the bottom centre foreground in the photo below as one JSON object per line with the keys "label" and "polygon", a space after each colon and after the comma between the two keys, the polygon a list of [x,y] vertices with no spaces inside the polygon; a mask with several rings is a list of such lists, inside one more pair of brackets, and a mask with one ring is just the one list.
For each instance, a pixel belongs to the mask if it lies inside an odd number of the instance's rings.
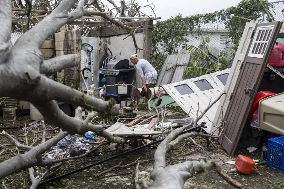
{"label": "forked pale fallen branch rising from the bottom centre foreground", "polygon": [[[154,169],[150,174],[150,178],[154,181],[153,185],[148,187],[148,189],[182,189],[185,181],[195,175],[196,173],[203,172],[205,170],[215,170],[218,174],[220,174],[229,184],[233,185],[236,188],[247,188],[239,184],[237,181],[234,181],[229,175],[226,175],[225,172],[220,171],[220,167],[214,162],[207,162],[206,160],[202,161],[185,161],[180,164],[175,164],[171,166],[166,166],[165,155],[170,150],[174,148],[179,142],[183,141],[186,138],[193,136],[202,136],[202,137],[211,137],[218,138],[220,136],[212,136],[206,135],[203,133],[191,132],[181,134],[185,129],[189,126],[196,126],[197,122],[202,118],[202,116],[213,106],[224,94],[222,92],[216,100],[214,100],[209,106],[198,115],[198,111],[196,113],[196,120],[193,119],[190,124],[187,124],[181,128],[177,128],[172,131],[157,147],[157,150],[154,154]],[[178,136],[179,135],[179,136]],[[220,134],[221,135],[221,134]],[[220,168],[220,169],[219,169]]]}

